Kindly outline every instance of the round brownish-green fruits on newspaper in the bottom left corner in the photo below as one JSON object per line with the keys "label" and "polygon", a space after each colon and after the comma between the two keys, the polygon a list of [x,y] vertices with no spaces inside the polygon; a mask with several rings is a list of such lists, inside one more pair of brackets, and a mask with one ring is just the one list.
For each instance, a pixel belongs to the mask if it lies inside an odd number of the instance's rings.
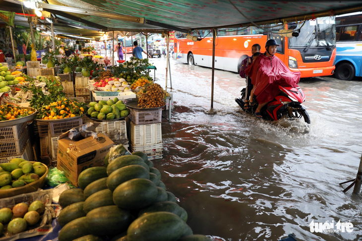
{"label": "round brownish-green fruits on newspaper in the bottom left corner", "polygon": [[34,201],[29,206],[22,202],[10,208],[0,209],[0,235],[4,233],[4,224],[7,224],[9,235],[19,234],[26,231],[28,226],[37,224],[40,215],[43,214],[45,205],[42,201]]}

